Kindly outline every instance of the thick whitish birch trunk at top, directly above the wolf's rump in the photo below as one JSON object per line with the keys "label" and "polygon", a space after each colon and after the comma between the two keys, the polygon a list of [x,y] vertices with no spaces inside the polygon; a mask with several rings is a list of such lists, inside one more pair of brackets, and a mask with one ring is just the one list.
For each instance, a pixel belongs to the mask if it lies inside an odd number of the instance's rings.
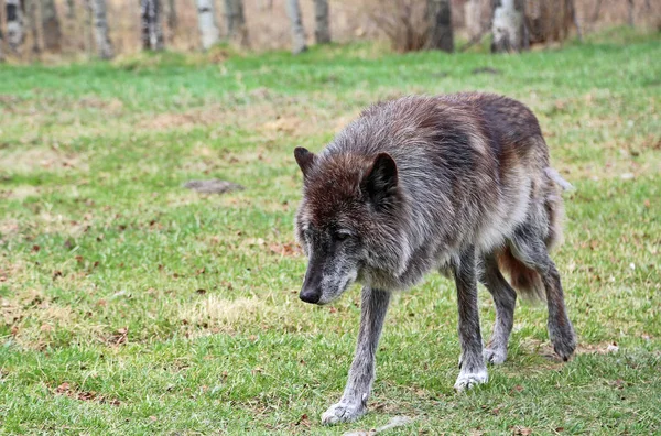
{"label": "thick whitish birch trunk at top, directly above the wolf's rump", "polygon": [[523,0],[494,0],[491,52],[521,52],[528,48]]}

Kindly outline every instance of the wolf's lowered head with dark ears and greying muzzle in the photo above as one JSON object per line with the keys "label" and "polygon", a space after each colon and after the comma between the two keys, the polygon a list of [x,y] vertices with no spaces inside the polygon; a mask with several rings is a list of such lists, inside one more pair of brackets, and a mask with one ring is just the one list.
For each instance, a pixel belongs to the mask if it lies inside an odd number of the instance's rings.
{"label": "wolf's lowered head with dark ears and greying muzzle", "polygon": [[392,268],[401,252],[397,215],[402,203],[394,160],[387,153],[315,155],[294,150],[303,172],[296,238],[308,264],[300,297],[327,304],[365,268]]}

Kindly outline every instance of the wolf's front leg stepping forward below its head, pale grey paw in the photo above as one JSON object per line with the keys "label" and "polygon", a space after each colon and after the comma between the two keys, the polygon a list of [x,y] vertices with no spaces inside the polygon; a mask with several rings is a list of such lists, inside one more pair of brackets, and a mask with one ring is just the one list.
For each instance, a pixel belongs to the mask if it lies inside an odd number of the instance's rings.
{"label": "wolf's front leg stepping forward below its head, pale grey paw", "polygon": [[377,347],[389,303],[389,292],[367,286],[362,288],[358,345],[349,369],[347,386],[339,403],[324,412],[322,423],[336,424],[355,421],[367,412],[367,400],[375,381]]}

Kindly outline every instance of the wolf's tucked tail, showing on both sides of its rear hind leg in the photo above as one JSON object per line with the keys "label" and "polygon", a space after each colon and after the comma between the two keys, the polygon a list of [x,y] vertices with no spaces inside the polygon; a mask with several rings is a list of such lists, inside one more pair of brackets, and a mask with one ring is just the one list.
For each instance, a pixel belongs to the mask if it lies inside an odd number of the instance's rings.
{"label": "wolf's tucked tail, showing on both sides of its rear hind leg", "polygon": [[[548,177],[548,192],[544,196],[544,210],[548,217],[548,227],[544,231],[544,242],[546,250],[562,243],[562,222],[564,219],[564,207],[562,203],[562,190],[572,189],[572,185],[566,182],[557,171],[546,167],[544,173]],[[510,284],[524,299],[545,301],[546,293],[540,274],[517,259],[509,247],[505,247],[497,255],[498,266],[510,276]]]}

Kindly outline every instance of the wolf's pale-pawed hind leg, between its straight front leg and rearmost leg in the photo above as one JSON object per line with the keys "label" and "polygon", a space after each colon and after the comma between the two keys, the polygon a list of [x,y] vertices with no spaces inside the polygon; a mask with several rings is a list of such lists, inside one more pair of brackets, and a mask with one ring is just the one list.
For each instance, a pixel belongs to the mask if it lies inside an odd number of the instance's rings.
{"label": "wolf's pale-pawed hind leg, between its straight front leg and rearmost leg", "polygon": [[485,257],[483,268],[480,282],[489,291],[496,305],[496,324],[484,356],[488,363],[499,364],[507,359],[507,344],[514,325],[517,293],[500,273],[494,254]]}

